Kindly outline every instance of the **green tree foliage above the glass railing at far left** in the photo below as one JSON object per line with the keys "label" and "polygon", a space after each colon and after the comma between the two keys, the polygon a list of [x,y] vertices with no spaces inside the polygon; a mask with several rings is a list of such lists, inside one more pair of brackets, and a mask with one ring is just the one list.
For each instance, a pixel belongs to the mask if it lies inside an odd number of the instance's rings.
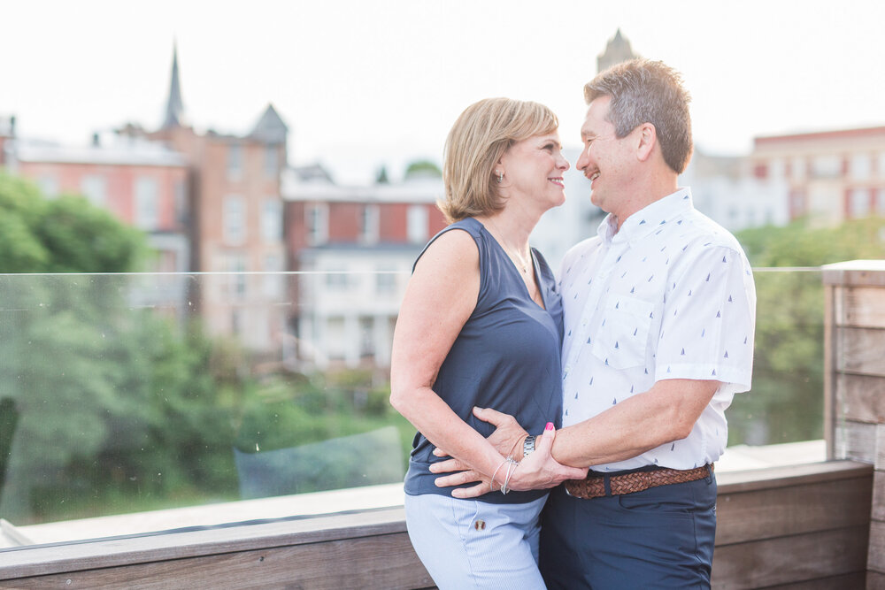
{"label": "green tree foliage above the glass railing at far left", "polygon": [[83,197],[48,200],[0,172],[0,272],[128,272],[146,252],[141,232]]}

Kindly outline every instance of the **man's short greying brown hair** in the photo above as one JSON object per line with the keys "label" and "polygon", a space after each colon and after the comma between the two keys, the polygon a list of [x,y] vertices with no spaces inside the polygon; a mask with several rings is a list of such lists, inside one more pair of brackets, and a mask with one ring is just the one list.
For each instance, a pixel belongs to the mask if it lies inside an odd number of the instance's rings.
{"label": "man's short greying brown hair", "polygon": [[682,76],[663,62],[637,58],[612,65],[584,85],[584,99],[592,103],[611,96],[608,119],[615,135],[625,137],[637,126],[655,126],[664,161],[681,174],[691,157],[689,91]]}

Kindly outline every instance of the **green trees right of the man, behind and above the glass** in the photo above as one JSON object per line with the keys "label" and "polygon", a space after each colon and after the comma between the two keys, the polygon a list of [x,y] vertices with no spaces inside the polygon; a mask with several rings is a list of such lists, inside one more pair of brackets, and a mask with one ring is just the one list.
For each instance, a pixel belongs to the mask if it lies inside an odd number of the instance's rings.
{"label": "green trees right of the man, behind and above the glass", "polygon": [[737,234],[755,272],[756,351],[753,388],[728,410],[729,444],[771,444],[823,436],[824,296],[818,267],[885,257],[885,220],[834,227],[765,226]]}

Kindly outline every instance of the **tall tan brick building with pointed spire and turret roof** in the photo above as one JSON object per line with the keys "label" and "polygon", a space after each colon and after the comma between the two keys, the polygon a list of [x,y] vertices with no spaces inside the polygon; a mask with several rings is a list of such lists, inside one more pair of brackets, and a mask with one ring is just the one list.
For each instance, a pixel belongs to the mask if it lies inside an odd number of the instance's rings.
{"label": "tall tan brick building with pointed spire and turret roof", "polygon": [[268,105],[248,134],[198,133],[189,126],[173,52],[163,125],[154,132],[127,126],[180,153],[189,172],[190,269],[206,272],[193,294],[213,333],[236,335],[252,352],[281,360],[287,293],[282,233],[281,171],[288,128]]}

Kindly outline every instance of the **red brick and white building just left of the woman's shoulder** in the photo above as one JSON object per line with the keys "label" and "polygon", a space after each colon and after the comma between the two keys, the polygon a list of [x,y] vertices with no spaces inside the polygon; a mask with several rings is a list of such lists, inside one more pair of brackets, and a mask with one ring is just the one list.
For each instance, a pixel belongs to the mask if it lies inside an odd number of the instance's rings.
{"label": "red brick and white building just left of the woman's shoulder", "polygon": [[283,175],[291,285],[291,357],[299,370],[387,367],[412,264],[446,225],[437,178],[335,185],[319,167]]}

